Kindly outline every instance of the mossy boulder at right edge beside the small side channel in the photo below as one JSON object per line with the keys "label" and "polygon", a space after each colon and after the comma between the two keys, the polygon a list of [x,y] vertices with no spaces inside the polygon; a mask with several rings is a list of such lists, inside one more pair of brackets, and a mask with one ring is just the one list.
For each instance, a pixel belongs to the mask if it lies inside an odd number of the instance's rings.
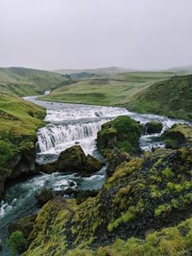
{"label": "mossy boulder at right edge beside the small side channel", "polygon": [[162,139],[166,143],[166,148],[192,147],[192,126],[176,124],[165,131]]}

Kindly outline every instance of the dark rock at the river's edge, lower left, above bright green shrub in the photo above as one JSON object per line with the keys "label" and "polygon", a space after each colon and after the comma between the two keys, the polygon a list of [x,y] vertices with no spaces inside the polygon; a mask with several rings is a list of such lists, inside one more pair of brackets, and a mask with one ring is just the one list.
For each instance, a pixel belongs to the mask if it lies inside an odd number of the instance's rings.
{"label": "dark rock at the river's edge, lower left, above bright green shrub", "polygon": [[16,230],[20,230],[23,233],[23,236],[27,238],[32,231],[36,218],[37,214],[33,214],[16,220],[15,222],[9,224],[9,232],[12,233]]}

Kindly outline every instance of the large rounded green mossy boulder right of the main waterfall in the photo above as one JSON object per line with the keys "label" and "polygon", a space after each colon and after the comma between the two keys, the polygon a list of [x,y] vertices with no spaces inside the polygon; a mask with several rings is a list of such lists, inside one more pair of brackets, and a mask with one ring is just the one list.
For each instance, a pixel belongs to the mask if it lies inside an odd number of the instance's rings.
{"label": "large rounded green mossy boulder right of the main waterfall", "polygon": [[113,148],[127,153],[137,153],[142,132],[143,127],[135,120],[128,116],[119,116],[102,125],[102,130],[97,133],[97,148],[102,153]]}

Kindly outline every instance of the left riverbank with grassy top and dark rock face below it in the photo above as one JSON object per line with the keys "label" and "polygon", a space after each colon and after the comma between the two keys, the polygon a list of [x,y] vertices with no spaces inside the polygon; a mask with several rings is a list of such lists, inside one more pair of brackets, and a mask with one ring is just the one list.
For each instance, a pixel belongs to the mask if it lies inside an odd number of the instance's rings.
{"label": "left riverbank with grassy top and dark rock face below it", "polygon": [[37,131],[44,125],[44,108],[18,96],[0,99],[0,199],[4,183],[35,172]]}

